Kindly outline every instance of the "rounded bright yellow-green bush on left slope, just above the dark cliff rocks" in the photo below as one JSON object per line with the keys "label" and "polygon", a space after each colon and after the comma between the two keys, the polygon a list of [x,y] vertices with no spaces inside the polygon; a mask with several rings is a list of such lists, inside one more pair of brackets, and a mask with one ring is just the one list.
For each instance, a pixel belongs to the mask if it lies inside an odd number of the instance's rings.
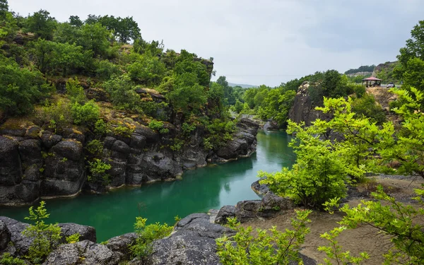
{"label": "rounded bright yellow-green bush on left slope, just above the dark cliff rocks", "polygon": [[93,100],[86,102],[84,105],[74,102],[71,106],[71,115],[74,124],[93,126],[100,117],[100,107]]}

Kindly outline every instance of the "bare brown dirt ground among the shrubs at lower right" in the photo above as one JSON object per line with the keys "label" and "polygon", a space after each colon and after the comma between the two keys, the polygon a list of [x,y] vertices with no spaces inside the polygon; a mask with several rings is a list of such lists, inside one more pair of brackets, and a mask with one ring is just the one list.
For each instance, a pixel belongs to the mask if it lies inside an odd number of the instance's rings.
{"label": "bare brown dirt ground among the shrubs at lower right", "polygon": [[[423,183],[423,179],[416,179],[416,181],[411,182],[411,179],[408,178],[375,177],[375,182],[360,186],[358,189],[364,192],[368,189],[375,189],[377,184],[382,184],[384,190],[396,197],[396,199],[410,202],[411,197],[414,196],[413,189],[421,187]],[[358,205],[360,199],[363,198],[353,198],[348,204],[351,206]],[[290,228],[290,218],[293,217],[295,217],[295,213],[288,212],[282,213],[280,216],[276,216],[269,220],[252,220],[242,225],[252,225],[254,228],[271,228],[271,226],[276,225],[279,230],[283,230],[285,228]],[[317,247],[328,245],[328,241],[322,239],[319,235],[338,226],[336,222],[341,220],[342,217],[341,213],[330,215],[329,213],[314,211],[310,215],[310,219],[312,220],[310,223],[310,233],[305,238],[302,253],[318,262],[322,262],[326,255],[323,252],[319,252]],[[352,254],[356,255],[360,252],[367,252],[370,255],[370,259],[364,264],[372,265],[382,264],[384,261],[382,254],[391,246],[386,236],[377,234],[377,230],[369,226],[343,231],[338,237],[338,242],[343,247],[344,251],[350,250]]]}

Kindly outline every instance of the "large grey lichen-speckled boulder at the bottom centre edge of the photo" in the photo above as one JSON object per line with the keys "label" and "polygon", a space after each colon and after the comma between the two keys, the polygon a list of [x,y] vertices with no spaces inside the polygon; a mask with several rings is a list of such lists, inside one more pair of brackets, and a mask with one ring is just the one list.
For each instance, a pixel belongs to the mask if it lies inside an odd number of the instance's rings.
{"label": "large grey lichen-speckled boulder at the bottom centre edge of the photo", "polygon": [[155,241],[152,264],[219,264],[215,239],[224,234],[235,234],[230,228],[210,223],[206,213],[194,213],[183,218],[175,230],[170,237]]}

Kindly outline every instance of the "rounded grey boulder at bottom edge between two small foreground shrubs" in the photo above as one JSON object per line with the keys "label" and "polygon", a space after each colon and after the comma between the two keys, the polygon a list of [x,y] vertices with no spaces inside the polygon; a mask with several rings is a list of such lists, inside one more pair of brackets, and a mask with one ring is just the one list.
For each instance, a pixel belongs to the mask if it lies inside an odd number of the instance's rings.
{"label": "rounded grey boulder at bottom edge between two small foreground shrubs", "polygon": [[49,254],[44,263],[44,265],[64,264],[112,265],[119,264],[119,259],[105,245],[83,240],[73,244],[60,245]]}

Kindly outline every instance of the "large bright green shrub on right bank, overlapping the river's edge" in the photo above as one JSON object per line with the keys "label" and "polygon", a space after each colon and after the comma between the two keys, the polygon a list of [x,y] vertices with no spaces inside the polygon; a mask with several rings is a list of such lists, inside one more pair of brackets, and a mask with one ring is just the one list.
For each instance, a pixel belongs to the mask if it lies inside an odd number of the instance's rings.
{"label": "large bright green shrub on right bank, overlapping the river's edge", "polygon": [[259,177],[266,177],[261,183],[305,207],[322,208],[329,199],[344,198],[349,172],[348,161],[343,157],[345,150],[317,137],[325,128],[312,125],[305,129],[290,121],[287,131],[296,132],[296,139],[289,143],[295,149],[296,163],[291,170],[283,167],[281,172],[259,172]]}

